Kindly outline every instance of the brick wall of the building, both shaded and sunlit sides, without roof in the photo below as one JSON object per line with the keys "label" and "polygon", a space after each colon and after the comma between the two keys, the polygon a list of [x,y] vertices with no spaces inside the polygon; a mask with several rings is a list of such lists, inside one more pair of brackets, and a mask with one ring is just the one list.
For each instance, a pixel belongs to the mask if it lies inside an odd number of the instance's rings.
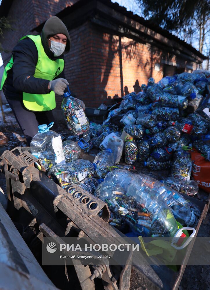
{"label": "brick wall of the building, both shaded and sunlit sides, without roof", "polygon": [[[187,61],[171,56],[150,44],[138,43],[127,37],[104,33],[86,22],[69,31],[72,48],[65,56],[65,75],[70,90],[86,106],[97,107],[102,102],[121,97],[134,90],[138,81],[147,84],[149,77],[159,81],[163,77],[162,60],[184,67]],[[155,71],[155,63],[160,71]],[[62,99],[57,98],[57,107]]]}

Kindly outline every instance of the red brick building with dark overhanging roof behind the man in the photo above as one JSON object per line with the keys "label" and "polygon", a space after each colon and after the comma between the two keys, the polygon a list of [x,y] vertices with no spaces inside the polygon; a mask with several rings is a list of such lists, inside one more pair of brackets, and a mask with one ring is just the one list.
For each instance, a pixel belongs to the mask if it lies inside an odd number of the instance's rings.
{"label": "red brick building with dark overhanging roof behind the man", "polygon": [[[57,15],[67,26],[71,50],[65,56],[70,90],[86,105],[97,107],[106,99],[134,90],[149,77],[159,81],[196,68],[206,57],[191,45],[111,0],[2,0],[0,16],[12,19],[14,31],[1,38],[9,53],[17,41],[38,34],[44,21]],[[61,98],[57,98],[60,106]]]}

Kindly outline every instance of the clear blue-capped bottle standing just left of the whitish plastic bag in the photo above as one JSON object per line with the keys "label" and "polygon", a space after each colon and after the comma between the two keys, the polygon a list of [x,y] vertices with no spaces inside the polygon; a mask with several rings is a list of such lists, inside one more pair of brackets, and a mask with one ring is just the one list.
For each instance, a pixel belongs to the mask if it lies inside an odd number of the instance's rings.
{"label": "clear blue-capped bottle standing just left of the whitish plastic bag", "polygon": [[97,168],[95,170],[95,177],[97,178],[104,178],[106,173],[108,172],[108,168],[114,165],[114,155],[111,149],[106,149],[100,151],[94,161]]}

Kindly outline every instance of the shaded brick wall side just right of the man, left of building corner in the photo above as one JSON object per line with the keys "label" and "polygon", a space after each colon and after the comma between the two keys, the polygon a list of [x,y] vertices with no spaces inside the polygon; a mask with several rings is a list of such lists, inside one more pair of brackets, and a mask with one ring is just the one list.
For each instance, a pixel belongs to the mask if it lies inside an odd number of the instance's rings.
{"label": "shaded brick wall side just right of the man, left of building corner", "polygon": [[[95,78],[93,75],[92,30],[90,23],[69,31],[71,50],[65,55],[65,77],[69,82],[70,91],[86,104],[95,106]],[[57,97],[57,108],[62,99]]]}

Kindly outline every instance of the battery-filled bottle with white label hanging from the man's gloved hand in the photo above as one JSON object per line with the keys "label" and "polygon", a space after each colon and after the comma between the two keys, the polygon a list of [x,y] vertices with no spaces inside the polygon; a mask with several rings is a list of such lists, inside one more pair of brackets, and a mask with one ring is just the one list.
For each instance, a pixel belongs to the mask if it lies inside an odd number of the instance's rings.
{"label": "battery-filled bottle with white label hanging from the man's gloved hand", "polygon": [[[69,88],[68,88],[69,90]],[[70,91],[64,93],[61,109],[71,135],[81,135],[89,130],[89,120],[84,113],[84,107],[79,99],[70,95]]]}

